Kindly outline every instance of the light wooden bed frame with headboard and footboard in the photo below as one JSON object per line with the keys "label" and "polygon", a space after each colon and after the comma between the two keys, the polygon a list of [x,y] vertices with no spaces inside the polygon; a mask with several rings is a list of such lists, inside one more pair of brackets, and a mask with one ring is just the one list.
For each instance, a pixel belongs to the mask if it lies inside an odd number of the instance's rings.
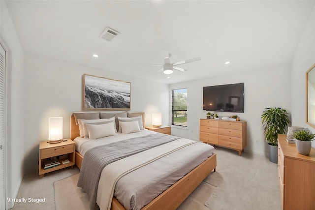
{"label": "light wooden bed frame with headboard and footboard", "polygon": [[[132,113],[142,115],[142,121],[144,125],[144,113]],[[74,115],[71,114],[70,120],[70,138],[73,140],[80,136],[79,126],[76,125]],[[75,151],[75,164],[81,169],[83,156]],[[213,154],[203,163],[198,165],[192,171],[190,171],[182,179],[175,182],[167,190],[161,193],[142,210],[175,210],[183,201],[189,196],[189,194],[204,180],[211,172],[216,171],[217,167],[217,155]],[[111,210],[126,210],[124,206],[113,197]]]}

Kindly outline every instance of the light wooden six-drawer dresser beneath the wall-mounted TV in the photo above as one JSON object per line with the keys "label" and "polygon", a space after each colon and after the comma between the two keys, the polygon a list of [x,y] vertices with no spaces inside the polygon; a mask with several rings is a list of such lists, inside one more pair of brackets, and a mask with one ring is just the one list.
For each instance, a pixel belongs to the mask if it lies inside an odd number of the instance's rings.
{"label": "light wooden six-drawer dresser beneath the wall-mounted TV", "polygon": [[246,146],[246,121],[200,119],[200,141],[237,150]]}

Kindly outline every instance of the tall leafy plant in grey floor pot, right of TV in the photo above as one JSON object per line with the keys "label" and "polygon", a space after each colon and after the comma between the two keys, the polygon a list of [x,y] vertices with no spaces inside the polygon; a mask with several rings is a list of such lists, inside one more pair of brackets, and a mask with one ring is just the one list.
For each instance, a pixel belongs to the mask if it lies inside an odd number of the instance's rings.
{"label": "tall leafy plant in grey floor pot, right of TV", "polygon": [[278,133],[285,133],[289,124],[289,116],[286,110],[265,108],[261,115],[264,135],[269,149],[269,161],[278,163]]}

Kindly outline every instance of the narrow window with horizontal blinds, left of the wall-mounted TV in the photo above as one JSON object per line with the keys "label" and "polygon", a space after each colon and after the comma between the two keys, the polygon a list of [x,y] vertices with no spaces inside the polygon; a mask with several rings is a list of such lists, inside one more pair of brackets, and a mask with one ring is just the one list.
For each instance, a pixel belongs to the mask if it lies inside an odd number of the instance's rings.
{"label": "narrow window with horizontal blinds, left of the wall-mounted TV", "polygon": [[172,125],[187,127],[187,89],[172,90]]}

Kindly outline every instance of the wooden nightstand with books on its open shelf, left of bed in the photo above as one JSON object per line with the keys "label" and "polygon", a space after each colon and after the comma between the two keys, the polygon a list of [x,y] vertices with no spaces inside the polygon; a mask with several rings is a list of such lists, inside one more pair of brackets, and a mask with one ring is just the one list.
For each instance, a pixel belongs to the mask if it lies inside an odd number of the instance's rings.
{"label": "wooden nightstand with books on its open shelf, left of bed", "polygon": [[[44,174],[63,169],[66,167],[74,166],[74,154],[75,145],[71,139],[67,139],[65,142],[60,142],[57,144],[51,144],[47,141],[39,143],[39,177],[43,178]],[[62,159],[57,157],[63,156]],[[62,161],[68,159],[70,162],[63,164]],[[61,165],[52,168],[44,169],[44,162],[48,160],[58,160]]]}

